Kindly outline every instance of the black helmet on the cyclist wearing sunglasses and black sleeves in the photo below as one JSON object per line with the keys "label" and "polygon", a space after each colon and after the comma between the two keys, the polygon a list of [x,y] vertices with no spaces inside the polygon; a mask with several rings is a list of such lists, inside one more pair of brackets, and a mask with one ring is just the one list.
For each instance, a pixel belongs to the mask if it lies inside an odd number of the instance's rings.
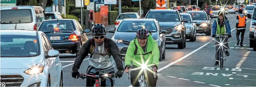
{"label": "black helmet on the cyclist wearing sunglasses and black sleeves", "polygon": [[105,26],[103,24],[97,23],[92,26],[91,33],[92,35],[105,35],[106,34]]}

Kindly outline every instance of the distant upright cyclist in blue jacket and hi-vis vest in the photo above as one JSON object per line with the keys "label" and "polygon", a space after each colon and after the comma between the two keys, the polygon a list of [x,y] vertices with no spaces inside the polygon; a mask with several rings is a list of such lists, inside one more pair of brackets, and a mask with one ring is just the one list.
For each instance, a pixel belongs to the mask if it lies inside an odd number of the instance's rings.
{"label": "distant upright cyclist in blue jacket and hi-vis vest", "polygon": [[[230,25],[229,25],[229,21],[228,19],[225,17],[224,15],[225,13],[224,12],[219,12],[219,17],[213,22],[213,25],[212,25],[212,37],[216,37],[216,35],[225,35],[225,36],[228,36],[228,37],[231,37],[231,29],[230,29]],[[217,32],[216,32],[217,31]],[[223,39],[223,44],[225,49],[226,49],[226,55],[229,56],[229,52],[227,51],[227,49],[229,49],[228,47],[228,38],[225,38],[225,37],[222,37]],[[215,59],[216,59],[216,62],[214,65],[219,65],[219,46],[220,46],[220,38],[217,37],[216,38],[216,52],[215,52]]]}

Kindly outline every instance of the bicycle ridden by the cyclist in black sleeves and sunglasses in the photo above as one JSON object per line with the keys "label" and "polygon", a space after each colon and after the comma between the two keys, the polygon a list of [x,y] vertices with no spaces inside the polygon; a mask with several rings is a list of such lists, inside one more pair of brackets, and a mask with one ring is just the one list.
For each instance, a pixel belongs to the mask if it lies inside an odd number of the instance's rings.
{"label": "bicycle ridden by the cyclist in black sleeves and sunglasses", "polygon": [[[96,72],[97,73],[97,72]],[[110,82],[111,82],[111,87],[114,86],[113,84],[113,80],[112,78],[115,77],[115,73],[111,73],[111,74],[96,74],[96,75],[90,75],[90,74],[83,74],[83,73],[80,73],[79,74],[79,77],[82,78],[82,79],[93,79],[95,80],[95,84],[94,84],[94,87],[101,87],[100,83],[103,79],[106,79],[106,78],[109,78],[110,79]]]}

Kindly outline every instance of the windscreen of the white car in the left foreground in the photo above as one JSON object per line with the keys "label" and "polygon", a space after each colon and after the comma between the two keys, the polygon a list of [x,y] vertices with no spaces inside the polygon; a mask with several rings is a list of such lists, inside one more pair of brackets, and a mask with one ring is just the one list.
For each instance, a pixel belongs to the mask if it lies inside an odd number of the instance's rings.
{"label": "windscreen of the white car in the left foreground", "polygon": [[35,57],[40,55],[38,36],[1,35],[1,57]]}

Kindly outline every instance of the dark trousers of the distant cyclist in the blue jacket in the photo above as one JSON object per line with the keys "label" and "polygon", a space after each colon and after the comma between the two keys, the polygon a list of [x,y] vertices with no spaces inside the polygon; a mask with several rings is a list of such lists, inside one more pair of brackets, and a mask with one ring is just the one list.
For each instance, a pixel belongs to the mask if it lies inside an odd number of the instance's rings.
{"label": "dark trousers of the distant cyclist in the blue jacket", "polygon": [[[219,37],[216,37],[215,38],[216,39],[216,43],[215,43],[215,45],[216,45],[216,52],[215,52],[215,59],[216,60],[219,60],[219,47],[220,47],[220,38]],[[229,47],[228,47],[228,38],[227,37],[222,37],[222,40],[223,40],[223,44],[224,44],[224,46],[223,46],[223,48],[225,48],[225,49],[229,49]],[[218,41],[218,42],[217,42]],[[225,47],[226,46],[226,47]],[[225,50],[224,50],[225,51]]]}

